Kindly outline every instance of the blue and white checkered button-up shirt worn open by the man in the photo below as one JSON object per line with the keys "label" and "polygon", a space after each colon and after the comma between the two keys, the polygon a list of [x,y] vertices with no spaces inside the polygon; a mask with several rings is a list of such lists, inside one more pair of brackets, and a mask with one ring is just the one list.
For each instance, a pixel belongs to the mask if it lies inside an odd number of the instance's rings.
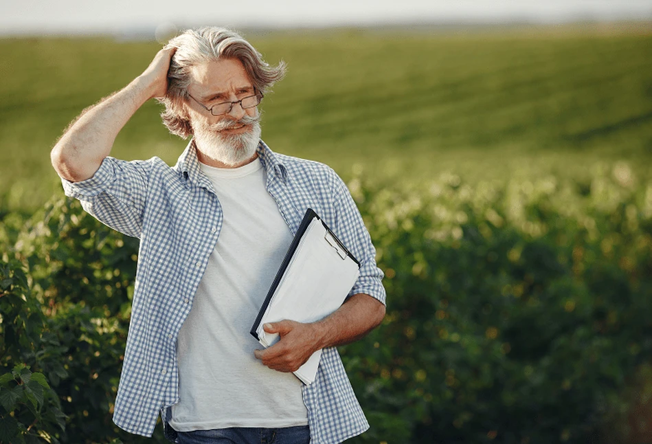
{"label": "blue and white checkered button-up shirt worn open by the man", "polygon": [[[350,294],[366,293],[384,304],[383,273],[344,182],[328,166],[273,153],[262,141],[258,156],[267,191],[291,232],[306,208],[313,208],[361,262]],[[158,157],[133,162],[106,157],[93,177],[78,183],[63,179],[63,188],[102,223],[140,238],[113,421],[151,436],[160,412],[170,437],[166,413],[179,400],[177,335],[220,234],[219,199],[199,169],[192,142],[173,168]],[[317,379],[304,386],[303,399],[311,443],[339,443],[369,427],[336,348],[324,350]]]}

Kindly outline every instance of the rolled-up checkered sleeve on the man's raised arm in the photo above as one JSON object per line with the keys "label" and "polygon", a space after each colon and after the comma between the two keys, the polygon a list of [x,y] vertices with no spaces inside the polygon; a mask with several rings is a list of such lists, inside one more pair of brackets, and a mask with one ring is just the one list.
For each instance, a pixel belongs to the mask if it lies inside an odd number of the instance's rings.
{"label": "rolled-up checkered sleeve on the man's raised arm", "polygon": [[80,182],[61,178],[65,195],[78,199],[96,219],[127,236],[142,232],[152,162],[105,157],[93,177]]}

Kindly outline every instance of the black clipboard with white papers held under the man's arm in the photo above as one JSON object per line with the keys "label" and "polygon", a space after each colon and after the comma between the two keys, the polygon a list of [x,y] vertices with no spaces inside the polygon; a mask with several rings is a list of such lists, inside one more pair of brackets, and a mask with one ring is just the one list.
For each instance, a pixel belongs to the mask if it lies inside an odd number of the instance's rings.
{"label": "black clipboard with white papers held under the man's arm", "polygon": [[[279,335],[266,333],[262,329],[266,322],[315,322],[330,315],[348,296],[359,268],[344,243],[308,208],[251,326],[251,335],[269,347]],[[294,372],[304,384],[315,380],[321,355],[321,350],[316,351]]]}

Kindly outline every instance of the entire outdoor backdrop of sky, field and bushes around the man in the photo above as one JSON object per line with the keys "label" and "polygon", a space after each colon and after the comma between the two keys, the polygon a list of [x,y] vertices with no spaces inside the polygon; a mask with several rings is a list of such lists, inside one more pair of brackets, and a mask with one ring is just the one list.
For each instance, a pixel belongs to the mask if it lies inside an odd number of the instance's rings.
{"label": "entire outdoor backdrop of sky, field and bushes around the man", "polygon": [[[14,420],[140,442],[110,423],[137,241],[63,199],[49,150],[199,25],[287,63],[262,137],[332,166],[374,238],[387,318],[341,348],[355,442],[652,442],[649,0],[3,3],[0,442]],[[160,111],[112,155],[174,164],[188,142]],[[8,413],[19,362],[65,432],[29,400]]]}

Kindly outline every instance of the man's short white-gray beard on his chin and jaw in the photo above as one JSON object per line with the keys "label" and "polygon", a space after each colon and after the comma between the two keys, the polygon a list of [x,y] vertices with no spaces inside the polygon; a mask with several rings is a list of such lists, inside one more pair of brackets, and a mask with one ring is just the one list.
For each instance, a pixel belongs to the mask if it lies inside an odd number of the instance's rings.
{"label": "man's short white-gray beard on his chin and jaw", "polygon": [[194,129],[194,139],[206,157],[227,166],[236,166],[254,157],[260,133],[259,122],[253,122],[251,129],[242,134],[223,134],[208,126]]}

